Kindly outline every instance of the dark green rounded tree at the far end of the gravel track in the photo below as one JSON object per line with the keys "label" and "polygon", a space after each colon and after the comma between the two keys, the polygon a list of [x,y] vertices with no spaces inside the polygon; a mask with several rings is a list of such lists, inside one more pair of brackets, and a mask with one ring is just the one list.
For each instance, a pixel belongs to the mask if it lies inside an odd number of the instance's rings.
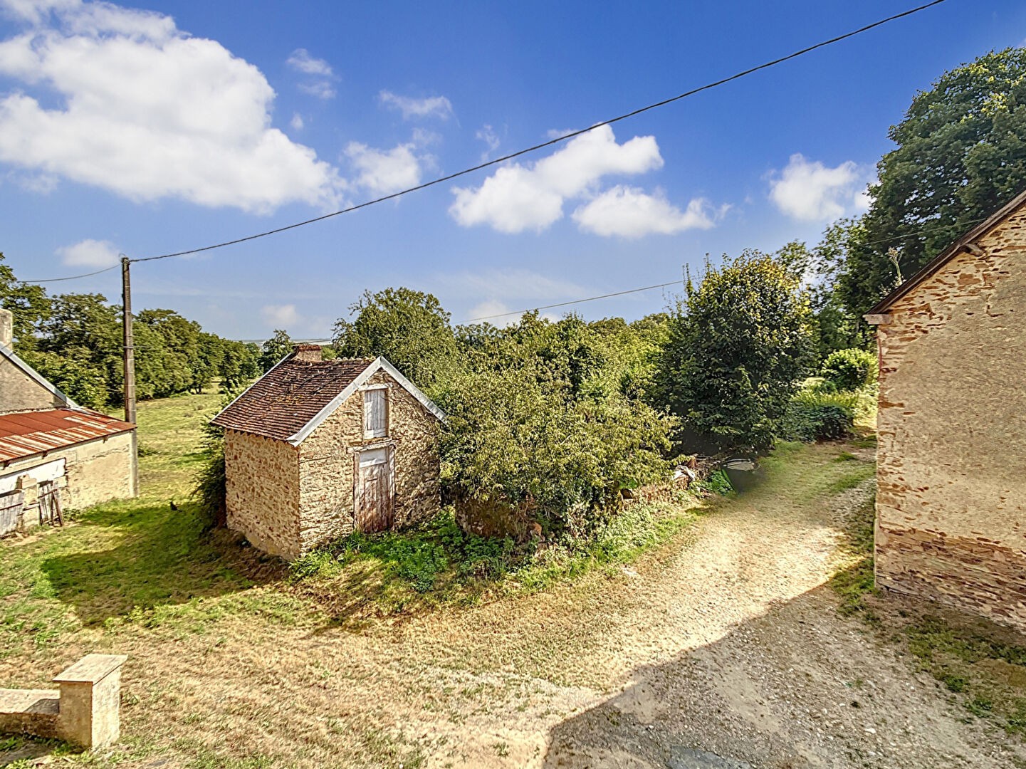
{"label": "dark green rounded tree at the far end of the gravel track", "polygon": [[681,419],[682,448],[768,448],[811,345],[808,302],[793,270],[758,252],[706,265],[671,317],[657,376],[658,401]]}

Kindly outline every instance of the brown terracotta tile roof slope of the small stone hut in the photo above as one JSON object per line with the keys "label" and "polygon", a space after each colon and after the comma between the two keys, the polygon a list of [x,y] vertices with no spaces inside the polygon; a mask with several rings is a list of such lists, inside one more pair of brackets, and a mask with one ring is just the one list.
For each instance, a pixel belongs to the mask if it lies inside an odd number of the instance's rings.
{"label": "brown terracotta tile roof slope of the small stone hut", "polygon": [[210,420],[230,430],[286,440],[351,385],[373,358],[285,358]]}

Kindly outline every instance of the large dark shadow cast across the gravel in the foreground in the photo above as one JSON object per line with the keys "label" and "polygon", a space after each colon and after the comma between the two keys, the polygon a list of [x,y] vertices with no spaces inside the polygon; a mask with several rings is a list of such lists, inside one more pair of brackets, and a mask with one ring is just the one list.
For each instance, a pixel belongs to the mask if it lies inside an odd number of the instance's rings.
{"label": "large dark shadow cast across the gravel in the foreground", "polygon": [[[837,606],[822,585],[714,643],[635,669],[624,691],[550,731],[544,766],[1022,766],[1019,738],[971,717]],[[900,617],[901,606],[886,611]]]}

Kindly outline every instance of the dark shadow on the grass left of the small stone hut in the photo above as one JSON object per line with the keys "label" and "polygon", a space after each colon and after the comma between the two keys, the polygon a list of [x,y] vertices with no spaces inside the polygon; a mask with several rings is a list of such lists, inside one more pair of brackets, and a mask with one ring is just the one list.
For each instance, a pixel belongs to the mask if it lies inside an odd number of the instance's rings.
{"label": "dark shadow on the grass left of the small stone hut", "polygon": [[208,530],[194,504],[171,510],[166,502],[112,503],[81,513],[78,521],[83,536],[93,528],[118,530],[118,544],[88,549],[83,539],[83,547],[52,552],[40,567],[53,598],[73,606],[86,624],[223,595],[280,579],[285,572],[277,559],[244,546],[231,533]]}

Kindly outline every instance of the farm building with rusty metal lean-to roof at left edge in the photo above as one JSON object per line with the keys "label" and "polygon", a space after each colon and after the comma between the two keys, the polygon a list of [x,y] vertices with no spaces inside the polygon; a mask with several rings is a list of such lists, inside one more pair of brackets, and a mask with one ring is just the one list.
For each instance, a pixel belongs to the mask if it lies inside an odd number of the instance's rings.
{"label": "farm building with rusty metal lean-to roof at left edge", "polygon": [[137,493],[135,426],[79,407],[14,354],[0,310],[0,534]]}

